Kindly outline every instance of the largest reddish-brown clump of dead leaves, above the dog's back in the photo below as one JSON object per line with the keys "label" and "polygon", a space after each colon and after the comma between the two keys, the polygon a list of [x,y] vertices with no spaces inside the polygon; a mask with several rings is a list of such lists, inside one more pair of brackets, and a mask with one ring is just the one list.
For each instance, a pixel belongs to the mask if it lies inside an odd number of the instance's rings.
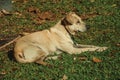
{"label": "largest reddish-brown clump of dead leaves, above the dog's back", "polygon": [[51,11],[41,12],[38,8],[33,6],[29,7],[27,11],[32,16],[35,24],[38,25],[44,23],[47,20],[54,20],[56,18],[56,16]]}

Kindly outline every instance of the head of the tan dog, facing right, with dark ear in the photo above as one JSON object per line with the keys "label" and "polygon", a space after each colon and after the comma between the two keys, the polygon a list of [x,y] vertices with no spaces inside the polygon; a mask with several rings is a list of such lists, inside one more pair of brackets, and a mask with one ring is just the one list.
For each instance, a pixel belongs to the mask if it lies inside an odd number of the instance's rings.
{"label": "head of the tan dog, facing right, with dark ear", "polygon": [[61,24],[69,31],[70,34],[75,35],[76,32],[84,32],[87,30],[85,23],[74,12],[68,13],[62,19]]}

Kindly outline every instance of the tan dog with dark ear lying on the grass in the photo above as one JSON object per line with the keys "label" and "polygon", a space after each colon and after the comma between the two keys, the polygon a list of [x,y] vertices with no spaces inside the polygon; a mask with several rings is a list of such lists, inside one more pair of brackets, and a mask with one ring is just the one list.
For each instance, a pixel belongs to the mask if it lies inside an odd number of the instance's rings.
{"label": "tan dog with dark ear lying on the grass", "polygon": [[48,30],[42,30],[26,34],[16,41],[14,56],[18,62],[46,65],[46,57],[53,53],[66,52],[80,54],[86,51],[104,51],[107,47],[94,45],[75,45],[71,35],[76,32],[85,32],[86,24],[74,12],[68,13],[55,26]]}

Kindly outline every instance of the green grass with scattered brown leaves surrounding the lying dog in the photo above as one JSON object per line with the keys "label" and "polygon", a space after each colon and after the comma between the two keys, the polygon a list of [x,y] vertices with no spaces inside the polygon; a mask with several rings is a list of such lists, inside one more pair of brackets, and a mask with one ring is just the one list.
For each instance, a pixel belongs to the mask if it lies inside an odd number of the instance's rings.
{"label": "green grass with scattered brown leaves surrounding the lying dog", "polygon": [[[74,11],[89,15],[84,21],[90,30],[73,37],[75,43],[108,46],[104,52],[85,52],[80,55],[63,53],[60,59],[48,60],[52,66],[35,63],[21,64],[12,57],[13,45],[0,51],[0,80],[119,80],[120,79],[120,0],[29,0],[15,2],[15,12],[0,18],[0,44],[19,33],[39,31],[53,26],[65,13]],[[38,13],[29,12],[30,7],[40,12],[51,11],[53,19],[42,24],[35,22]],[[37,11],[36,9],[34,9]],[[95,17],[93,17],[95,16]],[[81,59],[84,58],[85,59]],[[94,62],[97,57],[102,62]]]}

